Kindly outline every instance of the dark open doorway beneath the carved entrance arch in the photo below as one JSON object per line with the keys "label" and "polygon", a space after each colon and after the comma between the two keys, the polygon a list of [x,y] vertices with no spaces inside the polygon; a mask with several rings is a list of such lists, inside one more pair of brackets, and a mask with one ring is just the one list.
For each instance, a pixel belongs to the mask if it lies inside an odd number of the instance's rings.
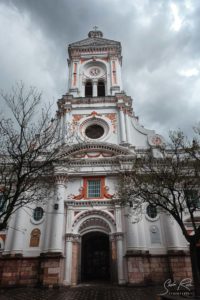
{"label": "dark open doorway beneath the carved entrance arch", "polygon": [[81,281],[110,281],[109,235],[89,232],[82,236]]}

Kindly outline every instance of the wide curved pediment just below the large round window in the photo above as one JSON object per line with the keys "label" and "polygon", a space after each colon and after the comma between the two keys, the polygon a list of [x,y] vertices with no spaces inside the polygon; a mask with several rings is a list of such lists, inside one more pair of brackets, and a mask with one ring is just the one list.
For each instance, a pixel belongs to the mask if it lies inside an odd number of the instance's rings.
{"label": "wide curved pediment just below the large round window", "polygon": [[62,158],[70,159],[97,159],[111,158],[121,155],[132,155],[133,153],[122,146],[107,143],[82,143],[63,148]]}

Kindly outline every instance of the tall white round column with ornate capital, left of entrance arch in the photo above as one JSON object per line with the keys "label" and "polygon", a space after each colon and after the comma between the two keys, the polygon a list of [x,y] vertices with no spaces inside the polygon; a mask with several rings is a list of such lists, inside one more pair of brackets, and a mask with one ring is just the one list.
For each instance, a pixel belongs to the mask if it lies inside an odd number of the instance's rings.
{"label": "tall white round column with ornate capital, left of entrance arch", "polygon": [[52,210],[51,241],[49,249],[51,252],[63,252],[66,181],[67,176],[65,175],[57,175],[55,177],[55,195]]}

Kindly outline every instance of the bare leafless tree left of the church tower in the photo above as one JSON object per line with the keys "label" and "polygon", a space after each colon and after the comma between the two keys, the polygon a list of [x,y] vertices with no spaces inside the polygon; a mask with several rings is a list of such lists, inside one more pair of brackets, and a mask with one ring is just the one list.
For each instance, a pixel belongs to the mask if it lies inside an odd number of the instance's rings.
{"label": "bare leafless tree left of the church tower", "polygon": [[58,120],[51,105],[41,108],[36,88],[20,83],[1,98],[10,117],[0,118],[0,230],[17,209],[44,197],[38,185],[49,184],[59,142]]}

